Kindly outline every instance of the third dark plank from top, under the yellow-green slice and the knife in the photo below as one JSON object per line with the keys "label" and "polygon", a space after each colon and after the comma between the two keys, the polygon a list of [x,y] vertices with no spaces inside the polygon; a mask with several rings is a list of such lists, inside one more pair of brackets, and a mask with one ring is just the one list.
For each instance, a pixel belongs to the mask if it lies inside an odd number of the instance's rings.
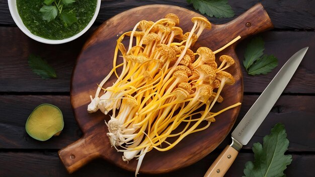
{"label": "third dark plank from top, under the yellow-green slice and the knife", "polygon": [[[243,118],[258,96],[244,96],[237,123]],[[33,109],[42,104],[58,106],[64,118],[64,129],[59,136],[40,142],[25,131],[25,123]],[[299,103],[296,106],[296,103]],[[61,149],[82,136],[73,117],[69,96],[0,96],[0,148],[4,149]],[[312,96],[281,96],[252,140],[243,149],[251,149],[253,143],[262,142],[262,137],[278,122],[285,125],[290,141],[289,151],[315,152],[315,100]],[[237,123],[235,123],[237,125]],[[235,127],[235,126],[234,126]],[[210,127],[211,128],[211,127]],[[233,130],[233,129],[232,129]],[[219,149],[231,143],[229,136]],[[1,150],[0,150],[1,151]]]}

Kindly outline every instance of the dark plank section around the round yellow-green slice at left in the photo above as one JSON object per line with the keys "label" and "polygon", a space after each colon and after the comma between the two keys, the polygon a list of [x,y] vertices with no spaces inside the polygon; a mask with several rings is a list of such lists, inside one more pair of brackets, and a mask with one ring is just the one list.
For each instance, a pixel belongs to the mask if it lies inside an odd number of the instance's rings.
{"label": "dark plank section around the round yellow-green slice at left", "polygon": [[[59,136],[37,141],[25,131],[25,123],[32,111],[42,103],[60,108],[64,128]],[[0,149],[60,149],[82,136],[74,121],[69,96],[0,96]]]}

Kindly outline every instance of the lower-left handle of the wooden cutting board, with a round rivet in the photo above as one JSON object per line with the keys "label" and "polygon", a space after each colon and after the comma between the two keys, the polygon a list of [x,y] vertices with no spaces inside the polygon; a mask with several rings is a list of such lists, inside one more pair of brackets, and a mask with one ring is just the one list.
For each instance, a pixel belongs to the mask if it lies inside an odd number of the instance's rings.
{"label": "lower-left handle of the wooden cutting board, with a round rivet", "polygon": [[93,143],[94,141],[99,141],[96,138],[94,134],[83,136],[81,139],[58,151],[59,158],[69,173],[100,156]]}

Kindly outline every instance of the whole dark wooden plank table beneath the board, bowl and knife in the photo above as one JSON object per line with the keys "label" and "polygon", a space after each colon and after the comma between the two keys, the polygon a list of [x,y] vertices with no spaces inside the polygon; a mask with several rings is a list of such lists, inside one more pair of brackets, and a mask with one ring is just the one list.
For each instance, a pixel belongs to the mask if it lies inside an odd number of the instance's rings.
{"label": "whole dark wooden plank table beneath the board, bowl and knife", "polygon": [[[238,17],[259,1],[229,1]],[[278,122],[285,125],[290,141],[287,154],[293,161],[285,170],[287,176],[315,175],[315,1],[262,1],[275,29],[264,32],[265,53],[275,55],[279,65],[271,73],[249,76],[243,69],[244,99],[237,123],[259,97],[281,66],[297,50],[309,46],[303,61],[266,120],[248,145],[244,146],[225,176],[242,176],[245,163],[254,159],[252,145]],[[151,4],[168,4],[193,10],[186,1],[102,1],[94,26],[82,37],[60,45],[47,45],[27,37],[11,18],[8,2],[0,0],[0,176],[133,176],[110,162],[97,159],[68,174],[57,151],[82,136],[70,103],[71,71],[85,41],[104,21],[125,10]],[[232,19],[208,18],[214,24]],[[244,58],[249,39],[237,47]],[[48,61],[57,73],[56,79],[42,79],[28,66],[27,58],[36,54]],[[58,106],[63,112],[64,129],[60,136],[40,142],[25,131],[32,110],[42,103]],[[237,125],[236,123],[236,125]],[[212,153],[197,163],[156,176],[203,176],[230,136]],[[151,176],[140,174],[139,176]]]}

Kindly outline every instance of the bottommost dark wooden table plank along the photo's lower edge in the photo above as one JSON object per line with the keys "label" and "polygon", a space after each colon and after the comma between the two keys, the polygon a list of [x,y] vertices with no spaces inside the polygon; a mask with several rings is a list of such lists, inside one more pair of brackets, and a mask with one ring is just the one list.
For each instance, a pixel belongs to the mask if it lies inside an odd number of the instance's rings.
{"label": "bottommost dark wooden table plank along the photo's lower edge", "polygon": [[[165,174],[144,174],[140,173],[139,177],[159,176],[203,176],[210,164],[219,155],[219,151],[211,153],[192,164],[191,166]],[[60,163],[55,151],[31,151],[31,152],[0,152],[0,176],[134,176],[133,172],[121,169],[105,160],[96,159],[87,164],[80,170],[68,174],[64,166]],[[292,154],[293,161],[287,166],[284,173],[287,176],[311,177],[315,173],[313,164],[315,155]],[[240,153],[224,177],[242,176],[245,163],[252,161],[252,153]]]}

